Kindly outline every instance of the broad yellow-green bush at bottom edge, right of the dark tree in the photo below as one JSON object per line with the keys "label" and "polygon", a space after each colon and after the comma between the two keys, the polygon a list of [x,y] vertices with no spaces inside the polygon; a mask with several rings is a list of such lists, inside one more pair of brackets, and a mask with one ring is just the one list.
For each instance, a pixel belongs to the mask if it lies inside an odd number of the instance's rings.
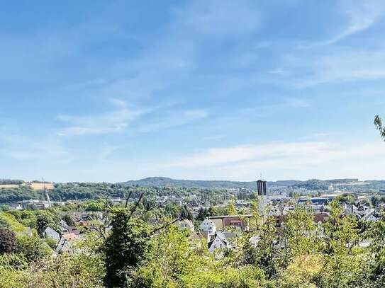
{"label": "broad yellow-green bush at bottom edge, right of the dark tree", "polygon": [[[203,247],[206,243],[203,243]],[[152,238],[147,260],[129,287],[255,288],[264,286],[264,272],[233,258],[215,259],[175,226]]]}

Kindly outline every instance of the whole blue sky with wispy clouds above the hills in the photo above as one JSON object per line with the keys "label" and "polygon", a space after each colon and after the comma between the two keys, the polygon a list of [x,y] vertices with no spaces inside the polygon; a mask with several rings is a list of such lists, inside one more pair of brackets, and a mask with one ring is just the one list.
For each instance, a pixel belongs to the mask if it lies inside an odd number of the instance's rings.
{"label": "whole blue sky with wispy clouds above the hills", "polygon": [[382,179],[384,1],[2,1],[0,178]]}

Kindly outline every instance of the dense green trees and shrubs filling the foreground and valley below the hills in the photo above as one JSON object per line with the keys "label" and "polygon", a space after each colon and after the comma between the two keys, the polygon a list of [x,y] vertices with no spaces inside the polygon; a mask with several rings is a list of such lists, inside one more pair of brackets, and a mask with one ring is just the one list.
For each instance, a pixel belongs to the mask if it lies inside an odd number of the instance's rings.
{"label": "dense green trees and shrubs filling the foreground and valley below the hills", "polygon": [[[262,216],[253,202],[249,231],[214,253],[199,233],[173,224],[191,217],[189,208],[146,199],[127,207],[99,200],[0,212],[0,287],[384,287],[385,216],[365,222],[345,215],[347,195],[330,203],[322,224],[306,207],[294,205],[281,221]],[[72,252],[55,255],[41,232],[86,208],[103,217],[91,216]],[[201,209],[196,229],[208,215],[235,213],[233,200]]]}

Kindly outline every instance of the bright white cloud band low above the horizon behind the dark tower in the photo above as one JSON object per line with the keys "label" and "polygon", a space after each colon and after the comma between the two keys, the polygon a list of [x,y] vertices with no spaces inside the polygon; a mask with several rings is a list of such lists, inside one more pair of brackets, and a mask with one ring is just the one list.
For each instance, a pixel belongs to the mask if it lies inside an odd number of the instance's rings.
{"label": "bright white cloud band low above the horizon behind the dark tower", "polygon": [[330,144],[322,148],[308,146],[305,151],[287,156],[270,155],[264,159],[239,161],[216,167],[218,174],[230,179],[253,179],[264,173],[269,179],[306,180],[309,178],[384,178],[381,161],[385,161],[385,145]]}

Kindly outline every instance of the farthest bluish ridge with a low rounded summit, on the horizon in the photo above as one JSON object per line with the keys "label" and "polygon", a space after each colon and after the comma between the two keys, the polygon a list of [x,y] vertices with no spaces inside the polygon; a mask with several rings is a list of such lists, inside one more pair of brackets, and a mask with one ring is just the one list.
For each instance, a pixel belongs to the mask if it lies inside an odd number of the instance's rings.
{"label": "farthest bluish ridge with a low rounded summit, on the horizon", "polygon": [[[277,186],[291,186],[302,183],[298,180],[282,180],[276,182],[269,182],[268,185]],[[228,180],[177,180],[167,177],[149,177],[140,180],[130,180],[125,185],[138,185],[140,187],[185,187],[185,188],[249,188],[255,189],[257,187],[257,181],[241,182],[241,181],[228,181]]]}

